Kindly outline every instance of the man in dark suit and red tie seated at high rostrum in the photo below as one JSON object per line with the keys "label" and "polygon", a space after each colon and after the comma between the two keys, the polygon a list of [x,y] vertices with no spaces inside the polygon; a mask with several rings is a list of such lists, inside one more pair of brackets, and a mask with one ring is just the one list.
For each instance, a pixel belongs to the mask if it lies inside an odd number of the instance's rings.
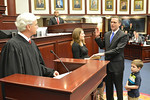
{"label": "man in dark suit and red tie seated at high rostrum", "polygon": [[54,17],[50,18],[49,25],[63,24],[64,20],[59,17],[59,11],[55,10]]}

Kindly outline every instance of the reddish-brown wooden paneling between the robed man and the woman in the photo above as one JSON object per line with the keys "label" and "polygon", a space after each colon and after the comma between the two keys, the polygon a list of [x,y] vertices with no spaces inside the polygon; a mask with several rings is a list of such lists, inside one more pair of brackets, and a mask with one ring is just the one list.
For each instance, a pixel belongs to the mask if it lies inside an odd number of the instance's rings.
{"label": "reddish-brown wooden paneling between the robed man and the woman", "polygon": [[54,68],[54,59],[57,59],[50,50],[53,50],[55,54],[61,57],[72,58],[72,51],[70,41],[71,35],[49,36],[41,38],[33,38],[37,44],[44,62],[47,67]]}

